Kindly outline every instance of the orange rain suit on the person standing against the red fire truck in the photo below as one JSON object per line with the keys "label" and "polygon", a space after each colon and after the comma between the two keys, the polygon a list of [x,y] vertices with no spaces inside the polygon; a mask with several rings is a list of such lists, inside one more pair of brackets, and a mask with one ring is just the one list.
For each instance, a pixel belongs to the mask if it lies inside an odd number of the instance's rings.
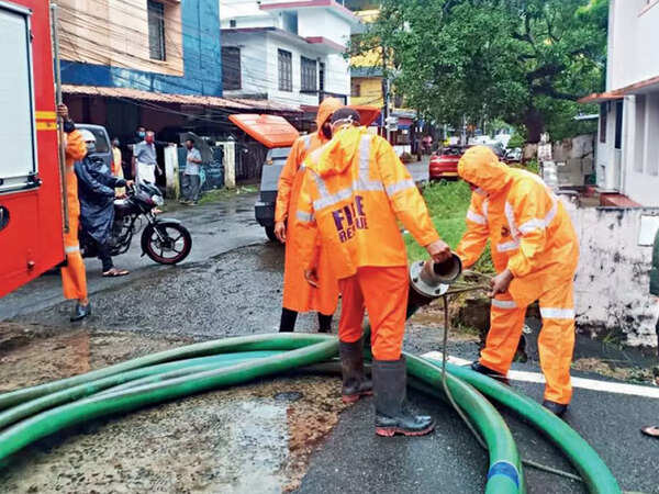
{"label": "orange rain suit on the person standing against the red fire truck", "polygon": [[80,203],[78,202],[78,178],[74,171],[74,162],[85,157],[87,146],[78,131],[69,133],[66,137],[65,178],[69,231],[64,234],[66,266],[62,268],[62,288],[65,299],[82,300],[87,297],[87,273],[85,271],[85,261],[80,255],[80,244],[78,243]]}

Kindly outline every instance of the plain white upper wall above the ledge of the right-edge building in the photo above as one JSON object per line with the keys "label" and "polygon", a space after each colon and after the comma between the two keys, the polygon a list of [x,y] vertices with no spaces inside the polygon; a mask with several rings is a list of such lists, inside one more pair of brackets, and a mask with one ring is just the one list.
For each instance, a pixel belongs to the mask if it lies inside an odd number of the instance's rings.
{"label": "plain white upper wall above the ledge of the right-edge building", "polygon": [[606,89],[659,76],[659,2],[611,0]]}

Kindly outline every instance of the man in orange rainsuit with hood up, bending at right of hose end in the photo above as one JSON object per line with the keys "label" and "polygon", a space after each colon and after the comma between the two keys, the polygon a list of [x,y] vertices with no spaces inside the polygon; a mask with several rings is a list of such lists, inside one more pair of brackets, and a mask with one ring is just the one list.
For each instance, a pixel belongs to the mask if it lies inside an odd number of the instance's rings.
{"label": "man in orange rainsuit with hood up, bending at right of hose end", "polygon": [[543,180],[509,168],[485,146],[468,149],[458,164],[474,190],[467,233],[457,254],[472,266],[488,239],[499,273],[492,280],[490,332],[472,369],[505,379],[522,336],[526,307],[540,301],[540,367],[547,380],[543,405],[561,416],[572,396],[573,280],[579,242],[562,203]]}

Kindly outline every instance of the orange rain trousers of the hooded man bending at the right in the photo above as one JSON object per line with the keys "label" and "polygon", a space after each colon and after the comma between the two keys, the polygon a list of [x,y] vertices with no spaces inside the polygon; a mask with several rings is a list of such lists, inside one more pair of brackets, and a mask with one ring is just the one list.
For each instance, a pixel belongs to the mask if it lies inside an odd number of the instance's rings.
{"label": "orange rain trousers of the hooded man bending at the right", "polygon": [[[545,374],[545,400],[567,405],[572,397],[570,363],[574,349],[574,299],[572,281],[539,296],[543,328],[538,337],[540,368]],[[480,362],[506,374],[524,328],[525,306],[506,293],[492,301],[490,332]]]}

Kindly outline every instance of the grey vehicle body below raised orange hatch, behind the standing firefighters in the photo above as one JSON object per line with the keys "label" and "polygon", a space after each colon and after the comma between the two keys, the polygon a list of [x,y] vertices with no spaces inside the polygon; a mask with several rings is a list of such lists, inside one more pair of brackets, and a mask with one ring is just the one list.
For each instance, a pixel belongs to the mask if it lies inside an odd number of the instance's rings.
{"label": "grey vehicle body below raised orange hatch, behind the standing firefighters", "polygon": [[277,186],[279,183],[279,176],[290,153],[290,147],[275,147],[268,150],[261,173],[258,201],[254,205],[256,221],[266,229],[266,235],[272,242],[277,240],[275,236]]}

